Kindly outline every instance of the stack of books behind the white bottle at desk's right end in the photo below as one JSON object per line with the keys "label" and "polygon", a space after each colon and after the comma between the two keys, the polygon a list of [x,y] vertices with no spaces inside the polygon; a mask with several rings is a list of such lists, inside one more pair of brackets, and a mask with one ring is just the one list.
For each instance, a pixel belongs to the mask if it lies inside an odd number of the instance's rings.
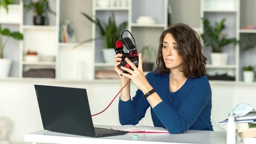
{"label": "stack of books behind the white bottle at desk's right end", "polygon": [[[227,130],[227,120],[219,122]],[[244,116],[236,116],[236,136],[244,144],[256,144],[256,112],[252,111]]]}

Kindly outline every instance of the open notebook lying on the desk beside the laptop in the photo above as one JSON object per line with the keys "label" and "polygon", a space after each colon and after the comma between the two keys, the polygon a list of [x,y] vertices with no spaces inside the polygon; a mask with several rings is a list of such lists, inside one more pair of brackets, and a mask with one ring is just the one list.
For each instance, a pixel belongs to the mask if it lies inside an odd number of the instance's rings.
{"label": "open notebook lying on the desk beside the laptop", "polygon": [[135,125],[122,125],[122,126],[114,126],[111,127],[113,130],[123,130],[128,131],[130,133],[169,133],[167,129],[163,127],[151,127],[151,126],[135,126]]}

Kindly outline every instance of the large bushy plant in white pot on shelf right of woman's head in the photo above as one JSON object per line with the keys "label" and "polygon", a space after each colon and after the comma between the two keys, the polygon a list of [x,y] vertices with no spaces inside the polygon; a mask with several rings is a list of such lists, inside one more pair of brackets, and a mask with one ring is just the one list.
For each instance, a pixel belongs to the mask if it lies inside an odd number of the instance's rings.
{"label": "large bushy plant in white pot on shelf right of woman's head", "polygon": [[215,27],[212,27],[207,18],[203,18],[204,33],[201,34],[202,40],[206,46],[212,47],[211,62],[212,65],[227,65],[228,54],[222,53],[222,48],[233,43],[236,45],[236,38],[227,38],[227,34],[222,31],[226,27],[222,19],[220,23],[215,22]]}

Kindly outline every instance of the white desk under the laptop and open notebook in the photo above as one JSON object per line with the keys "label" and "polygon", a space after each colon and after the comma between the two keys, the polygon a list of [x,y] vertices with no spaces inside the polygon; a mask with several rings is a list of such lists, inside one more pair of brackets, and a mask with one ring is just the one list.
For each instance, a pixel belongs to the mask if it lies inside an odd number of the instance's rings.
{"label": "white desk under the laptop and open notebook", "polygon": [[[111,126],[95,125],[110,128]],[[133,135],[138,135],[133,139]],[[122,136],[92,138],[40,130],[25,134],[26,142],[48,144],[226,144],[226,132],[188,130],[182,134],[127,133]],[[237,142],[236,144],[241,144]]]}

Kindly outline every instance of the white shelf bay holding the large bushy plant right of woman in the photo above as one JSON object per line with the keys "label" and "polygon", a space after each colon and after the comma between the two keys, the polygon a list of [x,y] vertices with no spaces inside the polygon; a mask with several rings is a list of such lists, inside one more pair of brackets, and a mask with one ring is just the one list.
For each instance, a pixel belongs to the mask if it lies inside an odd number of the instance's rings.
{"label": "white shelf bay holding the large bushy plant right of woman", "polygon": [[[201,0],[201,14],[200,17],[207,18],[212,25],[216,21],[220,22],[223,18],[226,18],[224,30],[228,37],[236,37],[239,40],[239,21],[240,21],[240,0]],[[201,30],[204,33],[204,25],[201,20]],[[210,75],[225,74],[234,77],[236,81],[239,81],[239,44],[236,46],[229,45],[224,48],[223,51],[228,54],[228,64],[215,66],[210,65],[210,51],[211,48],[205,48],[205,55],[208,58],[207,61],[207,73]],[[220,79],[221,80],[221,79]]]}

